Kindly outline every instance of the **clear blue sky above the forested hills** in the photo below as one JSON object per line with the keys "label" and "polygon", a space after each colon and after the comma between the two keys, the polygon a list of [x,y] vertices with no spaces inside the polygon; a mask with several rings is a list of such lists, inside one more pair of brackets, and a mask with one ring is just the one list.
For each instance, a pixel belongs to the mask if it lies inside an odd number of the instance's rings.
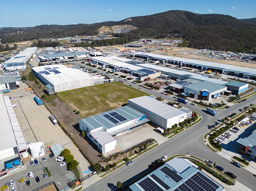
{"label": "clear blue sky above the forested hills", "polygon": [[0,27],[120,21],[169,10],[256,17],[256,0],[0,0]]}

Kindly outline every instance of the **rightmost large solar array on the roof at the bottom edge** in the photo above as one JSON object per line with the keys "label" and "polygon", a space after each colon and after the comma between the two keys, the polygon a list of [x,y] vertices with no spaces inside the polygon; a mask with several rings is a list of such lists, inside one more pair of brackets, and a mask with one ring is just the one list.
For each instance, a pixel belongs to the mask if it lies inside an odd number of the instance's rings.
{"label": "rightmost large solar array on the roof at the bottom edge", "polygon": [[185,181],[181,186],[179,186],[175,191],[187,191],[187,190],[195,190],[195,191],[215,191],[219,188],[211,179],[208,179],[200,172],[197,172],[190,179]]}

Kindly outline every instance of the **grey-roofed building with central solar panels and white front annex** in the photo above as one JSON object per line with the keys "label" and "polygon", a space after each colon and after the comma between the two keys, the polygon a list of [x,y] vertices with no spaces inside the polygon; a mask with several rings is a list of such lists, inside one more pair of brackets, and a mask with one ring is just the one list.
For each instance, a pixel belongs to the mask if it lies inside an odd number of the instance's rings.
{"label": "grey-roofed building with central solar panels and white front annex", "polygon": [[87,132],[87,136],[97,145],[99,151],[106,154],[115,150],[117,145],[113,136],[123,134],[148,121],[145,114],[127,105],[79,120],[79,126],[82,131]]}

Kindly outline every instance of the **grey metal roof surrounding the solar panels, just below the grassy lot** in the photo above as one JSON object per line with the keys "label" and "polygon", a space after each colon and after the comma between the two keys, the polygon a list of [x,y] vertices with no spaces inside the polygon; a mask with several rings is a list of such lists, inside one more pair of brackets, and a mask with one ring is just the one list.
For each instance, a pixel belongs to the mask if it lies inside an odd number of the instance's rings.
{"label": "grey metal roof surrounding the solar panels, just below the grassy lot", "polygon": [[[117,112],[118,114],[125,117],[127,120],[122,121],[122,122],[118,122],[118,123],[113,123],[111,120],[104,117],[104,115],[110,114],[112,112]],[[107,112],[104,112],[104,113],[100,113],[100,114],[91,116],[89,118],[81,119],[81,122],[86,124],[86,126],[90,130],[97,129],[99,127],[104,127],[106,129],[110,129],[112,127],[118,126],[119,124],[126,123],[127,121],[137,119],[137,118],[142,117],[144,115],[145,114],[143,114],[143,113],[135,110],[133,107],[127,105],[127,106],[120,107],[118,109],[114,109],[114,110],[111,110],[111,111],[107,111]]]}

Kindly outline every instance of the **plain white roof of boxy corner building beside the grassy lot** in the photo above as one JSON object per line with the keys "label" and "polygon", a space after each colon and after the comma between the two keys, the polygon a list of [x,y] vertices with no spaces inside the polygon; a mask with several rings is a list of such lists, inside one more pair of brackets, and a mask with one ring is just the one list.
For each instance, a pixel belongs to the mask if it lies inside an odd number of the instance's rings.
{"label": "plain white roof of boxy corner building beside the grassy lot", "polygon": [[144,107],[146,110],[149,110],[150,112],[155,113],[165,119],[170,119],[173,117],[187,114],[170,105],[157,101],[157,99],[152,99],[149,96],[142,96],[129,99],[128,104],[129,102],[133,102],[141,107]]}

